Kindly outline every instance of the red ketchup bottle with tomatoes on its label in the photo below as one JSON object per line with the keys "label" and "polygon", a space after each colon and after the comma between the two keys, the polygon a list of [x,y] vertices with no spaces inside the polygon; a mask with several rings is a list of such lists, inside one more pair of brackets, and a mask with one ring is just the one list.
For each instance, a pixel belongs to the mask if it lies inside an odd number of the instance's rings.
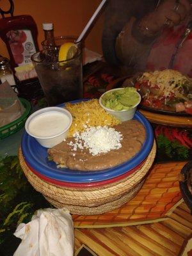
{"label": "red ketchup bottle with tomatoes on its label", "polygon": [[31,63],[31,56],[38,51],[35,20],[30,15],[13,16],[12,5],[12,16],[4,17],[4,13],[8,11],[1,10],[3,18],[0,19],[0,36],[8,49],[12,68]]}

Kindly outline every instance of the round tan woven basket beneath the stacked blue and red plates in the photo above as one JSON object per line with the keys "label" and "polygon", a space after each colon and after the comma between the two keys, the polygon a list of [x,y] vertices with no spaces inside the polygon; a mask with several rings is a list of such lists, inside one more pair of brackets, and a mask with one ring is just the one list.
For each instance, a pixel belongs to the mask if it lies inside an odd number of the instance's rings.
{"label": "round tan woven basket beneath the stacked blue and red plates", "polygon": [[70,213],[81,215],[112,211],[131,200],[145,181],[155,156],[156,143],[154,142],[154,146],[143,166],[128,177],[105,186],[89,188],[85,184],[83,188],[70,188],[54,185],[40,179],[35,173],[31,172],[24,161],[21,149],[19,150],[20,165],[31,185],[42,193],[54,207],[66,207],[70,210]]}

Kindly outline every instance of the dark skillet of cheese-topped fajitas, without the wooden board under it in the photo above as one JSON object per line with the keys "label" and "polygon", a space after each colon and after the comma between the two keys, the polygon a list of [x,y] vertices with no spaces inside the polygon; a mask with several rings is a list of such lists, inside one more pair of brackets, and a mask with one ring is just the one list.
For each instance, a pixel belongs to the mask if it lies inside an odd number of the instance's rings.
{"label": "dark skillet of cheese-topped fajitas, without the wooden board under it", "polygon": [[137,88],[142,109],[167,115],[192,115],[192,79],[177,70],[144,72],[132,80],[125,79],[122,86]]}

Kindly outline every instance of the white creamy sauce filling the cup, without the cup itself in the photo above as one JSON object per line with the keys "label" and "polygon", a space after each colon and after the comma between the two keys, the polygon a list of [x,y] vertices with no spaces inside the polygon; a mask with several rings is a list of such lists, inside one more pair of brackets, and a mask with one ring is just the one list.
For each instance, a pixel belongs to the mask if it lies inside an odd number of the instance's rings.
{"label": "white creamy sauce filling the cup, without the cup itself", "polygon": [[51,111],[35,116],[29,122],[28,129],[37,137],[52,137],[63,132],[70,124],[70,119],[65,113]]}

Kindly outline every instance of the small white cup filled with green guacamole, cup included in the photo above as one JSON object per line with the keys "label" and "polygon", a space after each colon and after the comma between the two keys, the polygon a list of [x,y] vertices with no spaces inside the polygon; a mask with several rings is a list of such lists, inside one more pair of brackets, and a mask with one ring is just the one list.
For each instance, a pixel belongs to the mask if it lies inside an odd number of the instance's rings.
{"label": "small white cup filled with green guacamole, cup included", "polygon": [[131,120],[140,102],[141,95],[134,87],[115,88],[99,98],[100,106],[121,121]]}

